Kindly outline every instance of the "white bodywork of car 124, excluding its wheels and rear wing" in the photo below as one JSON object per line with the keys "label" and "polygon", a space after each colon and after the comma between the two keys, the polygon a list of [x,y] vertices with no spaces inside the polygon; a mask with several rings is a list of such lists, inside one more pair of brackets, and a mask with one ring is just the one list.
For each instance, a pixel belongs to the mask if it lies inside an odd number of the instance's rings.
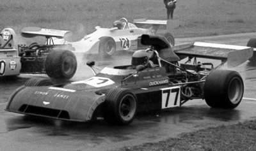
{"label": "white bodywork of car 124, excluding its wheels and rear wing", "polygon": [[68,42],[64,38],[54,38],[54,44],[71,44],[76,52],[86,52],[90,54],[99,53],[100,38],[111,37],[116,42],[116,50],[136,50],[138,48],[138,37],[142,34],[152,34],[148,29],[141,29],[134,24],[129,24],[127,29],[100,28],[95,27],[96,31],[84,36],[79,41]]}

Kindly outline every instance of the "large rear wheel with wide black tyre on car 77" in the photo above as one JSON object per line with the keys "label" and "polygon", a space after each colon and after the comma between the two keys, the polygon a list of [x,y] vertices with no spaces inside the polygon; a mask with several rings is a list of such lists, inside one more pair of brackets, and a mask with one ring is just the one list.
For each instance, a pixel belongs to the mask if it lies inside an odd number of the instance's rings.
{"label": "large rear wheel with wide black tyre on car 77", "polygon": [[236,108],[243,98],[243,79],[236,71],[214,70],[204,85],[205,102],[212,108]]}

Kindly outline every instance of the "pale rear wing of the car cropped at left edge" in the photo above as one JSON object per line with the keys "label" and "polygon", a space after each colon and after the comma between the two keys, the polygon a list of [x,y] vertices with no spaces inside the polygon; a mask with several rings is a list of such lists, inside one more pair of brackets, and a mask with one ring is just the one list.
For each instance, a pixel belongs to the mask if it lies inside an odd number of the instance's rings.
{"label": "pale rear wing of the car cropped at left edge", "polygon": [[68,31],[57,29],[44,29],[40,27],[24,27],[21,29],[20,34],[26,38],[33,38],[35,36],[45,36],[46,38],[63,38],[64,34]]}

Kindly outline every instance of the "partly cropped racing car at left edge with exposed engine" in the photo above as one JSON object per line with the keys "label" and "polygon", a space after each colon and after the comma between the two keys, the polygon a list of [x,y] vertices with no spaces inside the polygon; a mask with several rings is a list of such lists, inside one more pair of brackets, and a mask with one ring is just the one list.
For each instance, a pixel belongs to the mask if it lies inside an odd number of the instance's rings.
{"label": "partly cropped racing car at left edge with exposed engine", "polygon": [[[32,33],[27,33],[28,30]],[[52,37],[61,37],[63,32],[65,31],[25,27],[21,31],[22,36],[45,36],[47,43],[18,45],[16,48],[17,37],[13,29],[3,29],[0,33],[0,76],[45,73],[51,78],[72,78],[77,69],[76,56],[70,51],[74,48],[71,45],[52,43]]]}

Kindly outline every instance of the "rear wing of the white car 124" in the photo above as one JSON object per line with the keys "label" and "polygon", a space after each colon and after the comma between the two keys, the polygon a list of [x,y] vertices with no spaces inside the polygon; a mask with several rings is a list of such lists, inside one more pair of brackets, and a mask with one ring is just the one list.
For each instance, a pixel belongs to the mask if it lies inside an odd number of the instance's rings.
{"label": "rear wing of the white car 124", "polygon": [[166,29],[177,28],[180,25],[179,20],[147,20],[147,18],[134,19],[133,24],[152,25],[157,29],[159,28],[160,25],[163,25]]}

